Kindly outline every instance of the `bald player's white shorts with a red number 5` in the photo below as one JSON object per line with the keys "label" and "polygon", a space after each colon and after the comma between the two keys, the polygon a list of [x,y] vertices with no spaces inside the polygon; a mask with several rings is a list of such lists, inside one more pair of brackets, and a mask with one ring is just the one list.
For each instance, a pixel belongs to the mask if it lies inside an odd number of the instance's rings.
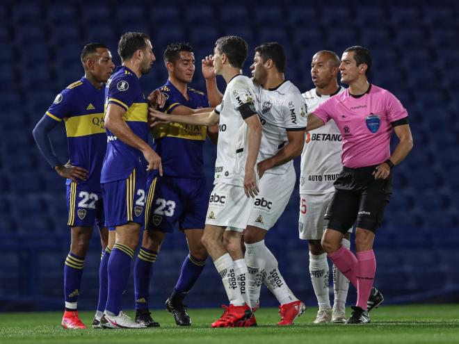
{"label": "bald player's white shorts with a red number 5", "polygon": [[[321,195],[300,195],[300,220],[298,221],[300,239],[321,240],[325,231],[323,217],[334,193],[335,191]],[[348,232],[352,233],[352,227]]]}

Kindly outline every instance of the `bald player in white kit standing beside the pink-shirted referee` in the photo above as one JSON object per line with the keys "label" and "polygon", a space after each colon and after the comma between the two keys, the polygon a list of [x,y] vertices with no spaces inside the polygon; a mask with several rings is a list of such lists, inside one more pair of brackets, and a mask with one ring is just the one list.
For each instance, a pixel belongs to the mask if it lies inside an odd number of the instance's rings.
{"label": "bald player in white kit standing beside the pink-shirted referee", "polygon": [[[314,109],[330,97],[344,92],[338,85],[339,57],[335,52],[323,50],[312,57],[311,76],[316,86],[303,93],[307,110]],[[333,182],[341,172],[341,133],[333,120],[318,129],[308,131],[301,154],[300,174],[300,239],[309,246],[309,275],[319,304],[316,320],[321,322],[346,322],[346,297],[349,281],[333,265],[333,310],[328,294],[329,270],[325,251],[321,246],[323,215],[332,199]],[[352,227],[344,234],[341,245],[351,247]]]}

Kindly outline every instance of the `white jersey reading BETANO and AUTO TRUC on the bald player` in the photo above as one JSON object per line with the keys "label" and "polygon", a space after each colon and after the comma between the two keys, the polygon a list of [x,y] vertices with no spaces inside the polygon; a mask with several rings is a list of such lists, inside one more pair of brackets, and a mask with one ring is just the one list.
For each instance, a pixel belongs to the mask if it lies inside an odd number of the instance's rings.
{"label": "white jersey reading BETANO and AUTO TRUC on the bald player", "polygon": [[[344,90],[340,87],[335,95]],[[332,96],[318,95],[315,88],[303,93],[307,113],[312,113]],[[300,194],[319,195],[335,190],[333,182],[343,169],[342,150],[341,133],[333,120],[305,134],[305,147],[301,153]]]}

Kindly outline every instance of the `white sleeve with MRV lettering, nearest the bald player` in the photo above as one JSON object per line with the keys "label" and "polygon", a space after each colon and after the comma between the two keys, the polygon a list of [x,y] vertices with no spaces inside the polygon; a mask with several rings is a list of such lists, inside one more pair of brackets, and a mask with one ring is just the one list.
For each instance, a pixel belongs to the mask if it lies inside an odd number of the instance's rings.
{"label": "white sleeve with MRV lettering, nearest the bald player", "polygon": [[282,104],[282,115],[287,131],[303,131],[306,129],[307,116],[305,100],[300,92],[290,92]]}

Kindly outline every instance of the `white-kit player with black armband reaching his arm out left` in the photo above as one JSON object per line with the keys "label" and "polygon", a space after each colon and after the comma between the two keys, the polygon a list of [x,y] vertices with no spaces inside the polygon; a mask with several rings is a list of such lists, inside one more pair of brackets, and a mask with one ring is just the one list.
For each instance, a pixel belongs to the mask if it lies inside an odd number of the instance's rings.
{"label": "white-kit player with black armband reaching his arm out left", "polygon": [[[261,123],[255,110],[251,81],[241,74],[247,58],[247,43],[237,36],[216,41],[215,73],[227,82],[223,101],[211,113],[165,115],[150,110],[150,115],[166,122],[218,124],[214,190],[209,199],[202,243],[222,277],[230,306],[211,327],[234,327],[252,316],[245,292],[247,265],[241,249],[242,231],[248,222],[253,200],[259,192],[255,163],[261,141]],[[239,240],[238,249],[225,243]],[[232,255],[230,255],[230,253]]]}

